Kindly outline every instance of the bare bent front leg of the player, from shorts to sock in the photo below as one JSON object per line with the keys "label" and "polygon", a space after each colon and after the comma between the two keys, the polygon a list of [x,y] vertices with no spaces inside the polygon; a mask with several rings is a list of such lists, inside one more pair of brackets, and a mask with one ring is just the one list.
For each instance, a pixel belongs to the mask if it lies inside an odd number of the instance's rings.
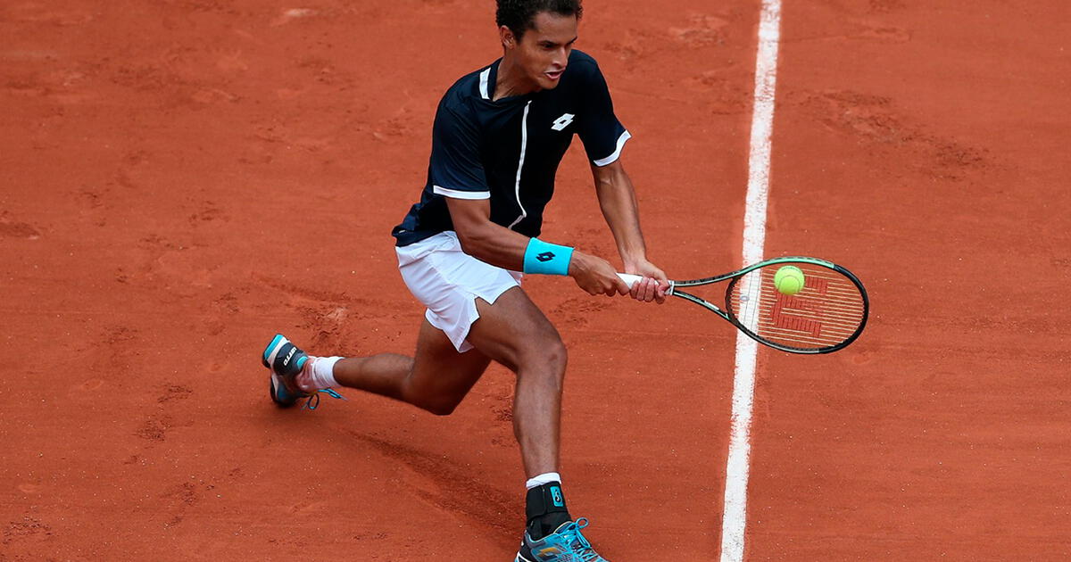
{"label": "bare bent front leg of the player, from shorts to sock", "polygon": [[525,472],[528,477],[556,472],[567,362],[561,336],[519,287],[493,305],[478,300],[477,308],[480,319],[468,340],[517,374],[513,432]]}

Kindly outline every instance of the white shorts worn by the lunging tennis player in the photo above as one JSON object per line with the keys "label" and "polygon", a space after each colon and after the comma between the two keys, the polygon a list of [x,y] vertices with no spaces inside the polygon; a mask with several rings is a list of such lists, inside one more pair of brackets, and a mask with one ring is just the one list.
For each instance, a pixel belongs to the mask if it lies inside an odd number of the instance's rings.
{"label": "white shorts worn by the lunging tennis player", "polygon": [[519,287],[524,276],[462,252],[462,243],[452,231],[394,249],[402,278],[413,297],[427,306],[424,317],[442,330],[461,353],[472,349],[465,338],[480,318],[476,299],[494,304],[503,292]]}

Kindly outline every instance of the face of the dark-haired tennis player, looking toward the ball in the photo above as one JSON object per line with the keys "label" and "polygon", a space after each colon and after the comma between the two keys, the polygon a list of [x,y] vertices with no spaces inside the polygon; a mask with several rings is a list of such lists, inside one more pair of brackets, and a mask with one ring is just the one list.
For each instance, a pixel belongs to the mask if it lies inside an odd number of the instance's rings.
{"label": "face of the dark-haired tennis player, looking toward the ball", "polygon": [[525,76],[542,90],[557,88],[569,64],[569,54],[576,42],[576,16],[550,12],[536,14],[534,29],[529,29],[514,42],[518,65]]}

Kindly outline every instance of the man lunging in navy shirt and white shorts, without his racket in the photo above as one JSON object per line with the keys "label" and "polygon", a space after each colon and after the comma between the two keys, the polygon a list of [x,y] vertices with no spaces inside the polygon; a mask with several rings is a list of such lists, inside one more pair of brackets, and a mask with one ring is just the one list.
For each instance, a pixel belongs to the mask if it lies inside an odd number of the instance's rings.
{"label": "man lunging in navy shirt and white shorts, without his racket", "polygon": [[[591,57],[574,50],[580,0],[498,0],[498,61],[459,79],[439,103],[427,183],[394,228],[406,285],[424,305],[414,356],[306,355],[283,335],[263,352],[272,399],[293,405],[346,386],[447,415],[491,361],[516,373],[513,428],[527,482],[516,562],[602,561],[584,518],[565,506],[558,473],[565,348],[521,288],[522,273],[569,275],[590,294],[663,302],[668,282],[647,260],[632,182],[619,156],[629,132]],[[576,134],[628,273],[544,242],[543,209]]]}

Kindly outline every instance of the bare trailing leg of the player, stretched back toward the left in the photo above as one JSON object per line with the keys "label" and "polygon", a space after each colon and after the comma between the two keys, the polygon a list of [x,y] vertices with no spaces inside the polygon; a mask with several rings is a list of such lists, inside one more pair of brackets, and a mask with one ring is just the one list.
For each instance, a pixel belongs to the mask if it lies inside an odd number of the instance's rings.
{"label": "bare trailing leg of the player, stretched back toward the left", "polygon": [[340,360],[338,384],[409,402],[432,413],[454,411],[491,363],[472,349],[458,353],[440,330],[425,319],[417,339],[416,359],[394,353]]}

